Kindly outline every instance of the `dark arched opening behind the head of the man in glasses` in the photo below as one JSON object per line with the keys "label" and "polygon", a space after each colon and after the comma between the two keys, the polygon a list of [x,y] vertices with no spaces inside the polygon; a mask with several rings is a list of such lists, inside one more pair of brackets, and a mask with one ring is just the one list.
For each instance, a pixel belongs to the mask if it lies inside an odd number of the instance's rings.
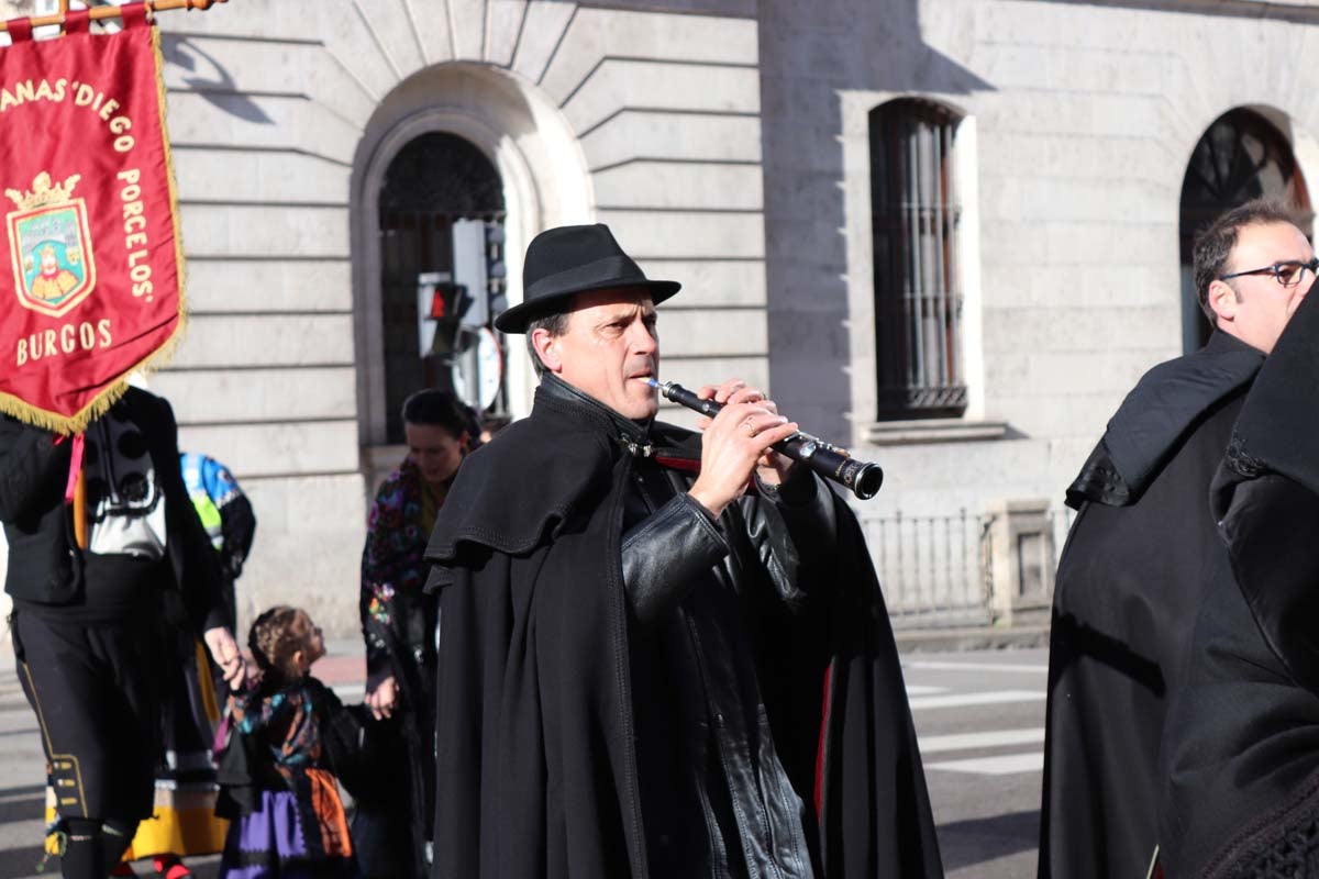
{"label": "dark arched opening behind the head of the man in glasses", "polygon": [[1182,349],[1191,352],[1210,337],[1191,281],[1195,236],[1224,211],[1256,198],[1297,208],[1310,232],[1310,192],[1289,137],[1262,113],[1237,108],[1219,116],[1196,142],[1182,178]]}

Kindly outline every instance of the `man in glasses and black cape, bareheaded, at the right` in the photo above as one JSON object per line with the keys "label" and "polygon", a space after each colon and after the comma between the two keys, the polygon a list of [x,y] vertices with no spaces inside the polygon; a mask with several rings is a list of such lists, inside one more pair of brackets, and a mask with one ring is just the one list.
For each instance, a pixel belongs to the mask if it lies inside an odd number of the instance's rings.
{"label": "man in glasses and black cape, bareheaded, at the right", "polygon": [[1223,553],[1210,484],[1265,357],[1319,261],[1293,215],[1250,202],[1195,242],[1215,327],[1146,373],[1067,489],[1049,659],[1039,876],[1145,876],[1158,846],[1159,739],[1206,571]]}

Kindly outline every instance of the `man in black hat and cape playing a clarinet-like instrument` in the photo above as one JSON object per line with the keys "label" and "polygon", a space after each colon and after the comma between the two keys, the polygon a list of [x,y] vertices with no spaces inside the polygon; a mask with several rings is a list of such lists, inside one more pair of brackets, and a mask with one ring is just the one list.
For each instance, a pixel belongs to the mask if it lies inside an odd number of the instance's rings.
{"label": "man in black hat and cape playing a clarinet-like instrument", "polygon": [[530,418],[472,453],[439,592],[435,876],[942,875],[855,518],[737,380],[654,420],[652,281],[604,225],[528,249]]}

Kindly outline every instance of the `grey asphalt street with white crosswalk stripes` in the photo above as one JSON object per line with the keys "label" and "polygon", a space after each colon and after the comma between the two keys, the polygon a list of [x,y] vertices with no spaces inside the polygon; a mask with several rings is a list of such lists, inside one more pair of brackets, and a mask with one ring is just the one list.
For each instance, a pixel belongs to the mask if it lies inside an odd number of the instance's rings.
{"label": "grey asphalt street with white crosswalk stripes", "polygon": [[[350,650],[332,650],[317,672],[357,701],[361,662]],[[0,656],[0,879],[47,879],[58,872],[55,862],[37,872],[45,760],[12,663]],[[1033,878],[1045,651],[907,654],[902,663],[948,878]],[[214,857],[189,863],[199,879],[215,875]],[[138,872],[154,875],[146,865]]]}

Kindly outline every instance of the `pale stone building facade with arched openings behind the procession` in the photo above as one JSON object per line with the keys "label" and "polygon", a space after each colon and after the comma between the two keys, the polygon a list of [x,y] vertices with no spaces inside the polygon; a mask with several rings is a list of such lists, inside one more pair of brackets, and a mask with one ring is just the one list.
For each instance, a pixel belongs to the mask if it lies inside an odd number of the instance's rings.
{"label": "pale stone building facade with arched openings behind the procession", "polygon": [[[1195,192],[1307,207],[1319,174],[1312,0],[233,0],[161,28],[191,323],[152,387],[256,505],[248,609],[339,631],[401,453],[398,340],[425,344],[390,282],[418,223],[497,228],[487,306],[539,229],[608,223],[685,285],[665,378],[768,385],[880,461],[869,518],[979,515],[1060,502],[1194,344]],[[1210,141],[1249,173],[1188,174]],[[433,174],[459,148],[497,203]],[[525,414],[520,340],[503,356],[496,407]]]}

